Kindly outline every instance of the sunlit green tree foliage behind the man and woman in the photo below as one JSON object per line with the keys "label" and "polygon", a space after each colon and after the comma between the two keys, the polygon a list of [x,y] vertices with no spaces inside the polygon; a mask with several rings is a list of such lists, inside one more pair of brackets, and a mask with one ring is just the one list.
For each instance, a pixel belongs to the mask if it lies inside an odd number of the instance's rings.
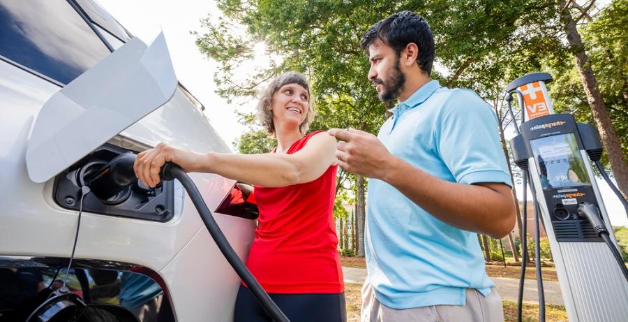
{"label": "sunlit green tree foliage behind the man and woman", "polygon": [[[627,0],[615,0],[590,17],[581,33],[599,87],[628,154]],[[376,132],[385,105],[366,80],[368,61],[361,35],[374,22],[400,10],[414,10],[430,22],[437,63],[449,71],[433,78],[449,87],[474,89],[486,101],[525,73],[551,71],[559,112],[592,122],[574,61],[560,25],[561,2],[541,1],[238,1],[220,0],[224,17],[203,21],[200,50],[218,61],[218,93],[227,99],[254,96],[260,85],[286,70],[306,73],[312,82],[318,117],[313,129],[354,127]],[[574,6],[576,6],[574,4]],[[254,58],[264,42],[274,57],[246,80],[234,71]],[[495,104],[493,104],[495,105]],[[255,136],[259,137],[259,136]],[[606,160],[606,159],[605,159]]]}

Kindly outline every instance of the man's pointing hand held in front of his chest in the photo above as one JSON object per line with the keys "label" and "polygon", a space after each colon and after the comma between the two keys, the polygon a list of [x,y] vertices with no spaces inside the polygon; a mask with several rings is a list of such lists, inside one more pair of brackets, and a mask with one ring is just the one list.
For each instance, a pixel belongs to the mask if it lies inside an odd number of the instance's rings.
{"label": "man's pointing hand held in front of his chest", "polygon": [[393,156],[373,134],[356,129],[330,129],[338,139],[336,158],[347,172],[383,180]]}

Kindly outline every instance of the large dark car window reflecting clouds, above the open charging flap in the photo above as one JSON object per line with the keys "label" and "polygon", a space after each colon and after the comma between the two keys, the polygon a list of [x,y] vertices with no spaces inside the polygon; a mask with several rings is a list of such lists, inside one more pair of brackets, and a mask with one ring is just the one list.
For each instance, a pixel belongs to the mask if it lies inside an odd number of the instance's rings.
{"label": "large dark car window reflecting clouds, above the open charging flap", "polygon": [[111,52],[67,1],[0,0],[0,56],[62,84]]}

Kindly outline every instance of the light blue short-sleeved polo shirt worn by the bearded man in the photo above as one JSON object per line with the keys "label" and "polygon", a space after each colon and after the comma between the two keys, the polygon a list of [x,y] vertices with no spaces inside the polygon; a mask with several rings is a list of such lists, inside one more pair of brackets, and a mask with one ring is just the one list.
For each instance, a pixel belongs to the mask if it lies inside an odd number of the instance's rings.
{"label": "light blue short-sleeved polo shirt worn by the bearded man", "polygon": [[[391,112],[377,138],[395,156],[449,182],[512,186],[497,117],[474,92],[432,80]],[[436,219],[381,180],[368,180],[366,205],[367,281],[383,305],[465,305],[465,288],[491,293],[476,233]]]}

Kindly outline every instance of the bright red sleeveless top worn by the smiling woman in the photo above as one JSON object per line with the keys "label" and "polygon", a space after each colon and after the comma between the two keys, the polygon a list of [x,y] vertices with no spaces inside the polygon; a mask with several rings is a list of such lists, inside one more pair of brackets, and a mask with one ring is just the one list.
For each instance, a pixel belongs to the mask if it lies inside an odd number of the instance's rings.
{"label": "bright red sleeveless top worn by the smiling woman", "polygon": [[[297,140],[287,154],[320,132]],[[333,214],[337,168],[304,184],[255,186],[260,217],[246,266],[268,293],[344,291]]]}

